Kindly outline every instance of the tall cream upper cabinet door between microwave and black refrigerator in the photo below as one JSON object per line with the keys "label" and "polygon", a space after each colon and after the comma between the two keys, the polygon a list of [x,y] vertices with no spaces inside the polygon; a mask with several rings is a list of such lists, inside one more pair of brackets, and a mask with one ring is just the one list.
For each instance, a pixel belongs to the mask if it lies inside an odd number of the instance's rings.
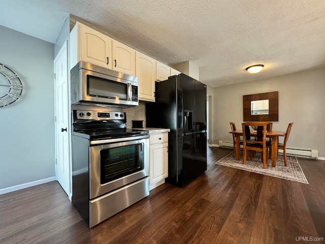
{"label": "tall cream upper cabinet door between microwave and black refrigerator", "polygon": [[154,102],[154,82],[156,75],[156,61],[136,52],[136,76],[139,78],[139,99]]}

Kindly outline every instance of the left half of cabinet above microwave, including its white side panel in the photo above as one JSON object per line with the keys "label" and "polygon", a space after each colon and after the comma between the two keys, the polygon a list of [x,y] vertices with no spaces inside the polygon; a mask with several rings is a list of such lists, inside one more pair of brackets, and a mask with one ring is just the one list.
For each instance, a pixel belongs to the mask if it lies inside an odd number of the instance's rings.
{"label": "left half of cabinet above microwave, including its white side panel", "polygon": [[112,69],[112,39],[94,29],[76,23],[70,34],[71,69],[80,61]]}

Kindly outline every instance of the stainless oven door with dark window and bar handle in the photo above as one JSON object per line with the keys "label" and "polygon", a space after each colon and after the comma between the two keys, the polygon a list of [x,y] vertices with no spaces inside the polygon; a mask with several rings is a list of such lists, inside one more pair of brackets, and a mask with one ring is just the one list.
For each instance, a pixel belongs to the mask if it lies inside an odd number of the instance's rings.
{"label": "stainless oven door with dark window and bar handle", "polygon": [[89,174],[90,199],[147,177],[149,136],[91,141]]}

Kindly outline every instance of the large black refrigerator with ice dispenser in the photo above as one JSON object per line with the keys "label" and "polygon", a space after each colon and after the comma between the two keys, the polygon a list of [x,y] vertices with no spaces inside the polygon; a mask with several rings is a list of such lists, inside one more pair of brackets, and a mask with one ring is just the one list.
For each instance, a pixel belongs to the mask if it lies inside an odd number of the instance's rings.
{"label": "large black refrigerator with ice dispenser", "polygon": [[206,85],[185,74],[155,83],[146,126],[169,128],[167,181],[184,187],[207,170]]}

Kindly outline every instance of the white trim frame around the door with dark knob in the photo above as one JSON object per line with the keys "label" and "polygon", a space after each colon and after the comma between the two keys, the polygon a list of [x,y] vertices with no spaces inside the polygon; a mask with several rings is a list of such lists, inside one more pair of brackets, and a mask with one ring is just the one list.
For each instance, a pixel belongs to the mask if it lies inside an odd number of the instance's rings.
{"label": "white trim frame around the door with dark knob", "polygon": [[[67,87],[67,91],[68,91],[68,141],[69,141],[69,193],[68,194],[68,197],[69,197],[69,200],[72,201],[72,145],[71,145],[71,97],[70,97],[70,84],[71,84],[71,81],[70,81],[70,63],[69,63],[69,45],[68,45],[68,40],[64,41],[63,45],[61,46],[60,48],[60,51],[57,53],[57,55],[55,56],[54,60],[53,60],[53,68],[54,68],[54,74],[55,74],[55,62],[56,60],[58,59],[58,57],[60,56],[61,52],[64,50],[64,48],[66,48],[67,50],[67,55],[66,55],[66,58],[67,58],[67,84],[68,84],[68,87]],[[57,99],[57,96],[56,96],[56,90],[55,90],[55,87],[56,87],[56,79],[54,78],[54,117],[56,116],[56,99]],[[59,129],[59,128],[58,128]],[[57,147],[56,147],[56,121],[54,121],[54,133],[55,133],[55,179],[57,180],[57,175],[56,175],[56,172],[57,172],[57,164],[56,164],[56,155],[57,155]]]}

